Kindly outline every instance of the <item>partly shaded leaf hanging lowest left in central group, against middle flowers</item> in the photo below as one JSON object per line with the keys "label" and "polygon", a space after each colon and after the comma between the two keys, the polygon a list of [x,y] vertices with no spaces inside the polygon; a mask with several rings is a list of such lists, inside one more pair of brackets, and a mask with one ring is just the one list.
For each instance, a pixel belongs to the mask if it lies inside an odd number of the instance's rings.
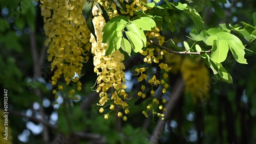
{"label": "partly shaded leaf hanging lowest left in central group, against middle flowers", "polygon": [[[122,33],[120,31],[114,31],[109,39],[109,41],[106,43],[106,52],[105,56],[108,56],[115,52],[116,50],[114,49],[114,38],[116,37],[122,37]],[[117,47],[118,45],[116,45]],[[119,49],[119,48],[118,48]]]}

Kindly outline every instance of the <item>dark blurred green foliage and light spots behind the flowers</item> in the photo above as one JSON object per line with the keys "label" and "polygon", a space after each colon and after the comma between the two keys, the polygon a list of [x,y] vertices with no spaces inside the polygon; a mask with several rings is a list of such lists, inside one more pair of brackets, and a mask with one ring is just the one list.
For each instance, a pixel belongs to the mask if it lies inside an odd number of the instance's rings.
{"label": "dark blurred green foliage and light spots behind the flowers", "polygon": [[[225,0],[175,2],[188,3],[195,8],[205,21],[205,29],[218,28],[220,23],[252,23],[251,14],[256,7],[252,0],[233,1],[232,5]],[[74,101],[74,106],[70,106],[71,102],[64,97],[55,100],[49,81],[52,71],[45,54],[44,22],[38,3],[32,0],[1,0],[0,4],[0,87],[8,90],[8,126],[11,129],[9,137],[12,137],[3,141],[1,135],[0,143],[150,143],[157,118],[145,118],[141,113],[146,103],[134,106],[140,87],[133,76],[138,63],[126,69],[127,82],[131,85],[129,93],[133,97],[129,102],[131,108],[127,122],[121,122],[114,115],[105,120],[98,112],[98,99],[91,99],[95,95],[91,87],[96,80],[92,55],[83,67],[82,91],[76,93],[79,100]],[[195,26],[182,12],[175,15],[178,19],[176,30],[170,32],[164,23],[162,34],[182,46],[184,40],[189,41],[186,36]],[[242,41],[245,42],[244,39]],[[44,60],[38,78],[34,76],[33,43],[37,58],[42,56]],[[255,45],[252,42],[246,48],[256,52]],[[201,74],[199,69],[204,64],[200,61],[194,61],[199,66],[181,70],[185,58],[187,56],[173,54],[165,58],[165,62],[172,66],[169,92],[175,86],[172,80],[184,73],[196,73],[195,79],[207,75]],[[217,82],[210,73],[207,97],[198,98],[193,93],[184,92],[159,132],[159,143],[256,143],[255,54],[247,52],[246,59],[247,65],[238,64],[231,57],[223,63],[233,77],[233,84]],[[60,105],[53,107],[54,101]],[[0,105],[2,114],[3,98]],[[45,118],[41,119],[42,116]],[[3,132],[2,121],[0,129]]]}

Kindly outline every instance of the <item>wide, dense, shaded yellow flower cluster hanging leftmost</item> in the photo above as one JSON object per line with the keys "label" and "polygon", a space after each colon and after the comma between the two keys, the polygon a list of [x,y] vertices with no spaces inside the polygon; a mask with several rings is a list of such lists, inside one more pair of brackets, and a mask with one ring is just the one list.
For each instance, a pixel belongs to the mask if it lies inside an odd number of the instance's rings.
{"label": "wide, dense, shaded yellow flower cluster hanging leftmost", "polygon": [[[91,47],[90,31],[82,16],[82,6],[85,3],[85,0],[40,0],[44,30],[48,37],[45,42],[49,45],[48,60],[52,61],[51,70],[55,71],[52,85],[56,85],[58,79],[64,77],[67,85],[71,81],[75,82],[77,90],[81,90],[78,77],[81,76],[82,63],[89,59],[86,55]],[[58,85],[58,90],[62,88],[62,85]],[[53,93],[56,94],[56,90]],[[70,90],[70,97],[72,93],[74,90]]]}

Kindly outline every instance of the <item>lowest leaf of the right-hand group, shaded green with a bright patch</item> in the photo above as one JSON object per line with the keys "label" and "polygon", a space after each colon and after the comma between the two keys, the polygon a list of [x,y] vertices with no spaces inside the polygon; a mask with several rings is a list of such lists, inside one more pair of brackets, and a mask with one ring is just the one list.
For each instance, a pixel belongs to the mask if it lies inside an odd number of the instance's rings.
{"label": "lowest leaf of the right-hand group, shaded green with a bright patch", "polygon": [[[219,75],[216,75],[217,79],[221,80],[221,81],[224,81],[224,82],[227,82],[229,84],[232,83],[233,80],[232,80],[230,74],[227,73],[227,70],[222,66],[222,64],[217,63],[217,66],[218,66],[218,72],[219,72],[218,73]],[[218,76],[220,76],[220,77],[218,77]]]}

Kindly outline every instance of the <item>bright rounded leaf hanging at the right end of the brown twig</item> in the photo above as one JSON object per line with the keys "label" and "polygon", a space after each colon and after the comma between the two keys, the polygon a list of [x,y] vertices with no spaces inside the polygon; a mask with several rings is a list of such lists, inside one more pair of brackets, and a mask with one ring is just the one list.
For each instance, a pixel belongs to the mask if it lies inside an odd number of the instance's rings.
{"label": "bright rounded leaf hanging at the right end of the brown twig", "polygon": [[211,49],[211,58],[217,63],[225,61],[228,53],[228,44],[226,40],[214,40]]}

